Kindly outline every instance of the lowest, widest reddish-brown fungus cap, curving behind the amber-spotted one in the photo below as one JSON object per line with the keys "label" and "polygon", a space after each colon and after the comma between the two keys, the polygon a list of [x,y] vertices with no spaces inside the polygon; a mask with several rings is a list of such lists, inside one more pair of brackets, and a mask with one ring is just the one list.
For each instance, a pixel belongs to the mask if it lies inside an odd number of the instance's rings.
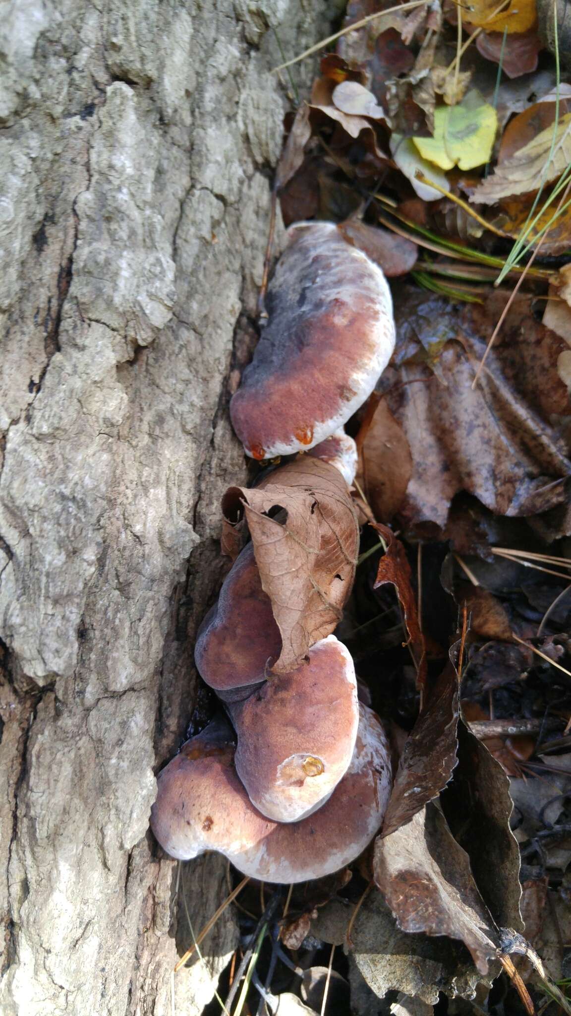
{"label": "lowest, widest reddish-brown fungus cap, curving behind the amber-spotted one", "polygon": [[230,725],[210,724],[158,776],[150,818],[156,839],[180,861],[217,850],[264,882],[305,882],[351,864],[379,829],[390,793],[383,727],[367,706],[360,713],[340,783],[314,815],[286,824],[254,808],[234,766]]}

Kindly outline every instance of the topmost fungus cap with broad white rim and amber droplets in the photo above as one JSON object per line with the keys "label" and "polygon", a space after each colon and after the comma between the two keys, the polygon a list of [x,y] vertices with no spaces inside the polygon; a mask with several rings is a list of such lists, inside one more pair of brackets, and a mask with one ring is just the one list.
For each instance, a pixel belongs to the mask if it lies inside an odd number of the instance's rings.
{"label": "topmost fungus cap with broad white rim and amber droplets", "polygon": [[371,394],[394,348],[381,269],[332,223],[290,227],[268,288],[269,319],[230,404],[253,458],[329,437]]}

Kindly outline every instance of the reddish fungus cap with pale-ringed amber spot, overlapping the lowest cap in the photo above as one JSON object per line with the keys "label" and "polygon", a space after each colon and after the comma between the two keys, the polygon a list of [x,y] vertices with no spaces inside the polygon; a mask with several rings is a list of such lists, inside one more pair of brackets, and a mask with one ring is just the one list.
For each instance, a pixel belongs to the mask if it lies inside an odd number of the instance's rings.
{"label": "reddish fungus cap with pale-ringed amber spot, overlapping the lowest cap", "polygon": [[344,776],[359,725],[351,653],[334,635],[309,660],[230,706],[236,771],[253,805],[276,822],[311,815]]}

